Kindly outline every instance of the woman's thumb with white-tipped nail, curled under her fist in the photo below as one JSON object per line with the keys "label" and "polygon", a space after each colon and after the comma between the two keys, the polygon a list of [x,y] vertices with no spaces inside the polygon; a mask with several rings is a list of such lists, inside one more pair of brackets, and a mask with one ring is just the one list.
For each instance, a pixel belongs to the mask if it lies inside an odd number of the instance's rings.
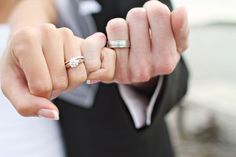
{"label": "woman's thumb with white-tipped nail, curled under her fist", "polygon": [[2,74],[2,91],[19,114],[25,117],[37,116],[51,120],[59,119],[59,111],[51,101],[30,93],[27,82],[19,68],[5,68]]}

